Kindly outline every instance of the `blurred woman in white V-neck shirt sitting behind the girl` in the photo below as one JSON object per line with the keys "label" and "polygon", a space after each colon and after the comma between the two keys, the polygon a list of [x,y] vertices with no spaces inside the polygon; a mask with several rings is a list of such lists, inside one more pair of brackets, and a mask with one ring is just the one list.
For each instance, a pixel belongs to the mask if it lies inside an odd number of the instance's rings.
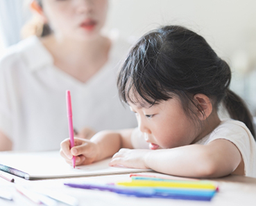
{"label": "blurred woman in white V-neck shirt sitting behind the girl", "polygon": [[101,32],[108,0],[34,0],[31,7],[44,24],[40,37],[24,39],[0,59],[0,151],[60,149],[68,137],[67,89],[78,137],[135,127],[116,85],[117,64],[130,45]]}

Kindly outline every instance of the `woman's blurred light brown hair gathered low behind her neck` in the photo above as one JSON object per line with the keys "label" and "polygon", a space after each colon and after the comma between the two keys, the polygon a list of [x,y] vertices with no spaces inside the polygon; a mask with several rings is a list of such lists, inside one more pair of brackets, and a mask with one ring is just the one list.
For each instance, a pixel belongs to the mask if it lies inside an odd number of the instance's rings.
{"label": "woman's blurred light brown hair gathered low behind her neck", "polygon": [[[38,5],[42,7],[42,0],[36,0]],[[45,37],[50,35],[52,32],[49,24],[44,24],[40,19],[34,17],[31,21],[22,28],[22,37],[26,38],[31,35],[36,35],[37,37]]]}

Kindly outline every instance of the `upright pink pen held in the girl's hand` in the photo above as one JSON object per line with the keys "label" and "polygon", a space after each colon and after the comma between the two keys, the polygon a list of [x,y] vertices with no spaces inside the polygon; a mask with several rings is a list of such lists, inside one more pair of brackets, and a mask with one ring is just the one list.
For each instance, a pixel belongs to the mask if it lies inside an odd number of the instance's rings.
{"label": "upright pink pen held in the girl's hand", "polygon": [[[73,121],[72,121],[72,106],[71,106],[71,95],[70,91],[66,91],[67,97],[67,120],[69,121],[69,141],[70,141],[70,149],[74,147],[74,129],[73,129]],[[73,167],[76,165],[76,156],[72,158]]]}

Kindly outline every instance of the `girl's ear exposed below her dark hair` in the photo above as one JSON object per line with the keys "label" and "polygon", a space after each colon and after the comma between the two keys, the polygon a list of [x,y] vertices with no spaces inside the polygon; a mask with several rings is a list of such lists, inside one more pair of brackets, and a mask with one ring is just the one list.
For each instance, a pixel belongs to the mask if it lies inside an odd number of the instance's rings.
{"label": "girl's ear exposed below her dark hair", "polygon": [[198,118],[206,120],[212,113],[212,102],[207,95],[196,94],[194,95],[194,103],[196,104]]}

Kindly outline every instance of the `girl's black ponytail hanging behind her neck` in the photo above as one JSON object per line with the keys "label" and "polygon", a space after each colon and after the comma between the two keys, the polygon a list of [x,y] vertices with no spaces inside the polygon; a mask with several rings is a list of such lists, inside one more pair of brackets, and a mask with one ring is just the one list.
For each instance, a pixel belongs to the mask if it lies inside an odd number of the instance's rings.
{"label": "girl's black ponytail hanging behind her neck", "polygon": [[244,100],[228,88],[223,103],[230,114],[230,118],[244,122],[255,138],[253,116],[250,114]]}

